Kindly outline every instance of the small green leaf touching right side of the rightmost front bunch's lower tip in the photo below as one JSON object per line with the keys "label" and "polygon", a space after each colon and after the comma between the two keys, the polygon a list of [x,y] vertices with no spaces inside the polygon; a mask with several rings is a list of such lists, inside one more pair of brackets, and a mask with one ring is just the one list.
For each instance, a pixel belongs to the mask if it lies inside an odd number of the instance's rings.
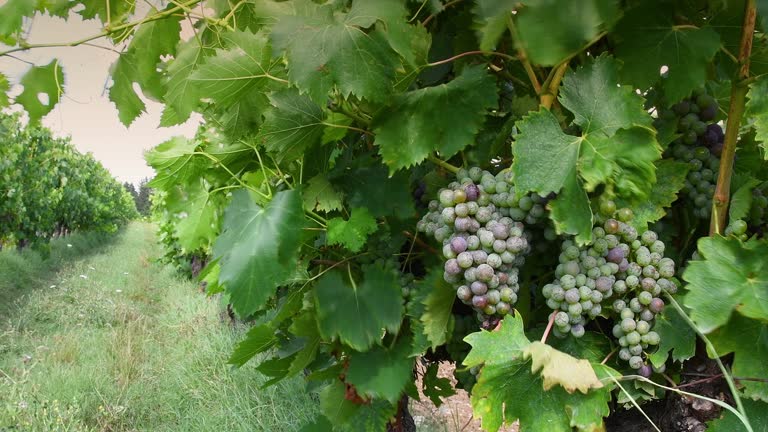
{"label": "small green leaf touching right side of the rightmost front bunch's lower tip", "polygon": [[648,356],[654,366],[666,363],[672,352],[672,360],[683,362],[696,353],[696,332],[680,316],[677,309],[667,307],[656,315],[653,331],[659,334],[659,348]]}

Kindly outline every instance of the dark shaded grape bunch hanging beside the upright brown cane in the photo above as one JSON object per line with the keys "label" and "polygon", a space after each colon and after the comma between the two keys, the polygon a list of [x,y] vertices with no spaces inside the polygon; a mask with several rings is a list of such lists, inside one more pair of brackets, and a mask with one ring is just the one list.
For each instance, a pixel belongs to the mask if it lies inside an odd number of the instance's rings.
{"label": "dark shaded grape bunch hanging beside the upright brown cane", "polygon": [[673,158],[690,165],[683,193],[693,202],[694,215],[708,219],[723,150],[723,129],[714,123],[718,104],[714,97],[697,90],[668,110],[662,110],[659,123],[675,123],[681,134],[669,147]]}

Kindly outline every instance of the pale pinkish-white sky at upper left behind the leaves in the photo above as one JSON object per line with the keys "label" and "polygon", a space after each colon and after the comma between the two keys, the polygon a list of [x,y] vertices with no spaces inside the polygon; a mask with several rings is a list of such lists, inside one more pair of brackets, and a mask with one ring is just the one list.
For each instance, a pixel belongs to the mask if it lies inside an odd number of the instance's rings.
{"label": "pale pinkish-white sky at upper left behind the leaves", "polygon": [[[4,3],[0,0],[0,4]],[[84,21],[72,13],[69,21],[37,16],[31,23],[29,42],[68,42],[97,34],[100,22]],[[109,46],[107,41],[94,41]],[[143,152],[175,135],[192,137],[200,122],[193,116],[183,125],[161,128],[163,105],[144,98],[147,112],[126,128],[117,117],[115,105],[106,91],[110,65],[118,54],[90,46],[37,48],[16,53],[19,59],[46,65],[53,58],[61,62],[65,74],[65,94],[43,119],[43,125],[56,136],[71,136],[82,153],[91,152],[120,181],[138,183],[153,171],[144,162]],[[31,66],[20,60],[0,57],[0,71],[11,82],[18,82]],[[15,86],[16,95],[22,87]],[[139,93],[141,95],[141,93]]]}

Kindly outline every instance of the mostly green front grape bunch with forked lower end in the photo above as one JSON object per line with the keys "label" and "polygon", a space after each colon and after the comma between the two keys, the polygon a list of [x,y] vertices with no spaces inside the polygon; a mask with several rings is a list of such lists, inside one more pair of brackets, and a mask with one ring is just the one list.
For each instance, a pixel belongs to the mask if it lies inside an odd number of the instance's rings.
{"label": "mostly green front grape bunch with forked lower end", "polygon": [[553,334],[558,337],[582,337],[589,320],[615,317],[619,357],[649,376],[643,353],[659,344],[652,329],[664,308],[662,291],[677,291],[675,264],[664,257],[665,245],[655,232],[638,233],[629,224],[632,211],[615,208],[610,201],[601,205],[601,213],[610,217],[598,216],[591,243],[562,243],[556,279],[542,287],[542,295],[553,310]]}

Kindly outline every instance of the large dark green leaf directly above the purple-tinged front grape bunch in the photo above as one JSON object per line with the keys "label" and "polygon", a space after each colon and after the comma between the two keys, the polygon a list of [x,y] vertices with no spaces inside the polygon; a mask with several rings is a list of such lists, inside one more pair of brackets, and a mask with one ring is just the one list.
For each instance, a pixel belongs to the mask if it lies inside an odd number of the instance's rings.
{"label": "large dark green leaf directly above the purple-tinged front grape bunch", "polygon": [[433,151],[448,158],[471,144],[496,100],[494,80],[481,66],[464,68],[447,84],[397,96],[371,123],[390,173]]}

